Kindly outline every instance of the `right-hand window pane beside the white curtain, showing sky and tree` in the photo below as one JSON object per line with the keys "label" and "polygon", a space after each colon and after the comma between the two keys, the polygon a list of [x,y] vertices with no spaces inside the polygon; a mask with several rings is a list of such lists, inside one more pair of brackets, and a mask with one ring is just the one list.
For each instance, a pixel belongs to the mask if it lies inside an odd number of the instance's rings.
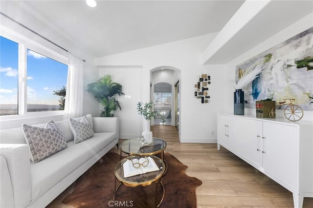
{"label": "right-hand window pane beside the white curtain, showing sky and tree", "polygon": [[67,65],[27,49],[27,112],[63,110],[55,93],[67,83]]}

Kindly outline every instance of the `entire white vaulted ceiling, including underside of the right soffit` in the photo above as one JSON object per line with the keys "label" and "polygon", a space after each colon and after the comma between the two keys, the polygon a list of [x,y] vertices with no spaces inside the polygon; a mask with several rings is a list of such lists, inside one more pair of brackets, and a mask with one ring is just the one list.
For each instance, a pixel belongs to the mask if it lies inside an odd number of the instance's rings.
{"label": "entire white vaulted ceiling, including underside of the right soffit", "polygon": [[[85,0],[0,0],[0,11],[62,47],[103,57],[219,32],[244,2],[97,0],[91,8]],[[312,0],[272,0],[212,57],[229,61],[312,11]],[[2,25],[15,24],[0,18]]]}

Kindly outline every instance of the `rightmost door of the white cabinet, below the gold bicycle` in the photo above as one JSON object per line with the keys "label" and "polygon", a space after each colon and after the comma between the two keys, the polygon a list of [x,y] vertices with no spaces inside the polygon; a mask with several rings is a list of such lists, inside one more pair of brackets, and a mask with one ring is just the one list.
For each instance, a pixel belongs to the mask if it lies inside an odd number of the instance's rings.
{"label": "rightmost door of the white cabinet, below the gold bicycle", "polygon": [[296,187],[298,161],[297,127],[263,122],[263,167]]}

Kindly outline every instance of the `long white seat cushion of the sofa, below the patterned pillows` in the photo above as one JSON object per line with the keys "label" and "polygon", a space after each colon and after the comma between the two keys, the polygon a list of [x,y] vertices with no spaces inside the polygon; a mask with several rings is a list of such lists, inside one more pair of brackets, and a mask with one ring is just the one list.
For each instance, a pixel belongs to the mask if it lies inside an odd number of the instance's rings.
{"label": "long white seat cushion of the sofa, below the patterned pillows", "polygon": [[57,185],[68,174],[79,168],[95,154],[114,141],[114,132],[94,133],[79,144],[67,142],[67,148],[39,163],[31,164],[31,200],[37,200],[47,190]]}

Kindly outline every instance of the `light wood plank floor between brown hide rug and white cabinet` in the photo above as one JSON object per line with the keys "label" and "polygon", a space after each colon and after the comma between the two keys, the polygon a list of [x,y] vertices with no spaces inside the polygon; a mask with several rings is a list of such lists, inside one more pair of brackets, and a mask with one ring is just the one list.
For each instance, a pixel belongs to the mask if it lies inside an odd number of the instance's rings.
{"label": "light wood plank floor between brown hide rug and white cabinet", "polygon": [[[151,131],[167,142],[166,152],[188,166],[187,175],[202,181],[196,189],[198,208],[293,208],[290,191],[225,148],[180,143],[174,126],[155,125]],[[303,208],[313,208],[313,198],[305,198]]]}

